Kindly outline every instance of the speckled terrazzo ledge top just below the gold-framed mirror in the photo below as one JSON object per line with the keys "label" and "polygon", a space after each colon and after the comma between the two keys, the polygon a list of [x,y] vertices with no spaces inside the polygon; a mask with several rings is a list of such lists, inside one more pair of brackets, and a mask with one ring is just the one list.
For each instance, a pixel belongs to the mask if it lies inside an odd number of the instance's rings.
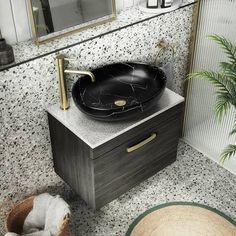
{"label": "speckled terrazzo ledge top just below the gold-framed mirror", "polygon": [[[194,0],[183,0],[181,6],[184,7],[188,4],[194,3]],[[177,10],[178,11],[178,10]],[[155,14],[143,13],[139,10],[138,6],[121,11],[117,15],[117,19],[110,23],[99,25],[88,29],[86,31],[77,32],[63,39],[55,39],[47,44],[41,44],[37,47],[32,40],[26,42],[20,42],[13,45],[15,54],[15,63],[21,63],[32,58],[45,55],[53,50],[61,50],[64,47],[71,46],[73,44],[82,43],[85,40],[97,37],[99,35],[112,32],[114,30],[119,30],[122,27],[126,27],[131,24],[135,24],[142,20],[148,19],[150,17],[155,17]],[[156,14],[158,17],[158,14]],[[0,67],[0,70],[4,67]]]}

